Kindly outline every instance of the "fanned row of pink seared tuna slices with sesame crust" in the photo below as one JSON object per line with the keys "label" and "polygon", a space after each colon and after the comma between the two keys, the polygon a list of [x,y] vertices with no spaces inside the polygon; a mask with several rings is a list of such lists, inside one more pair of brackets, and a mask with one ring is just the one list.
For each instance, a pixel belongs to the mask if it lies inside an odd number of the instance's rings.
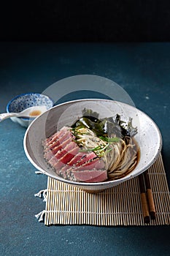
{"label": "fanned row of pink seared tuna slices with sesame crust", "polygon": [[42,146],[47,163],[63,178],[82,182],[107,180],[104,159],[93,151],[82,151],[70,127],[55,132]]}

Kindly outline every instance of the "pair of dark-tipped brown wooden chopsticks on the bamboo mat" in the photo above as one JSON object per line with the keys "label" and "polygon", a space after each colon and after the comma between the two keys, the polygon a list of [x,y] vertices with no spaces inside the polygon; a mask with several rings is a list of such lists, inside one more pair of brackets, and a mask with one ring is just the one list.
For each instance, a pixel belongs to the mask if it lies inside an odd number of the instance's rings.
{"label": "pair of dark-tipped brown wooden chopsticks on the bamboo mat", "polygon": [[150,223],[150,218],[155,219],[155,204],[152,196],[150,178],[148,176],[147,170],[139,175],[139,187],[141,192],[144,223]]}

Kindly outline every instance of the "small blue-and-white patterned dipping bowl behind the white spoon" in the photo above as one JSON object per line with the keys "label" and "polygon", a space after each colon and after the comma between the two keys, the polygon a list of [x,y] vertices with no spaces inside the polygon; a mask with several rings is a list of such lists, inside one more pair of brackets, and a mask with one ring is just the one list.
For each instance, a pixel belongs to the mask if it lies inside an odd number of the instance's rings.
{"label": "small blue-and-white patterned dipping bowl behind the white spoon", "polygon": [[[38,93],[27,93],[20,94],[15,98],[11,99],[7,104],[7,113],[18,113],[33,106],[45,105],[47,110],[53,107],[53,99],[43,94]],[[34,118],[18,118],[11,117],[11,120],[20,124],[23,127],[28,127]]]}

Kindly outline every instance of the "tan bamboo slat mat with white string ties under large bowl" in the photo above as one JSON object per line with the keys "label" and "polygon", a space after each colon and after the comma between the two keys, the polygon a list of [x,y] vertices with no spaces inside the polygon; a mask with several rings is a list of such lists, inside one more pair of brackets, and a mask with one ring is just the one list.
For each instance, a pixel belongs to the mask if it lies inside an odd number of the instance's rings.
{"label": "tan bamboo slat mat with white string ties under large bowl", "polygon": [[46,207],[40,214],[45,215],[45,225],[170,225],[169,187],[161,155],[148,174],[156,210],[150,224],[144,224],[138,177],[98,193],[48,177]]}

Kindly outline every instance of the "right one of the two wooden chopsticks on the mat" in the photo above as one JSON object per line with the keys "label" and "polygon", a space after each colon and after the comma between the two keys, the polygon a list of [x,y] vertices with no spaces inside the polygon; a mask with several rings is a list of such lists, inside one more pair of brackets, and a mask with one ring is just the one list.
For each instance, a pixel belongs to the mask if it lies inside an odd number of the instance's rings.
{"label": "right one of the two wooden chopsticks on the mat", "polygon": [[144,172],[144,181],[145,181],[146,191],[147,191],[147,201],[150,209],[150,218],[155,219],[155,203],[153,200],[152,189],[150,187],[150,178],[148,176],[147,170]]}

